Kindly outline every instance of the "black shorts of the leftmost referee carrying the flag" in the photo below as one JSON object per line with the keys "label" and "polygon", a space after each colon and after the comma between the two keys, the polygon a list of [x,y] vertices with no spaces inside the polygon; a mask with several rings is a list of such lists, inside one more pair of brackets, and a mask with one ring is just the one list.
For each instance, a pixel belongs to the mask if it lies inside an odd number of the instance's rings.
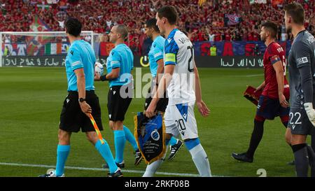
{"label": "black shorts of the leftmost referee carrying the flag", "polygon": [[[85,100],[92,108],[92,116],[97,123],[99,130],[103,130],[101,107],[99,106],[99,97],[94,90],[85,92]],[[90,118],[85,115],[78,103],[78,92],[69,91],[68,96],[64,99],[62,112],[60,114],[59,129],[66,132],[94,132],[94,127]]]}

